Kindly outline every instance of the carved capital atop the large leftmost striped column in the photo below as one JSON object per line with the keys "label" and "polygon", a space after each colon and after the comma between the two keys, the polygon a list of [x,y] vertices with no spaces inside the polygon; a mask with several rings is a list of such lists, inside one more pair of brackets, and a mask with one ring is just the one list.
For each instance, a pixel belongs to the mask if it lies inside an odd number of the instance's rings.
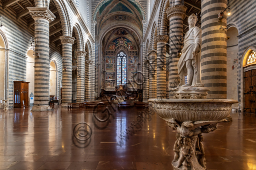
{"label": "carved capital atop the large leftmost striped column", "polygon": [[49,22],[52,22],[55,19],[55,15],[47,7],[26,7],[28,13],[33,19],[35,18],[44,18]]}

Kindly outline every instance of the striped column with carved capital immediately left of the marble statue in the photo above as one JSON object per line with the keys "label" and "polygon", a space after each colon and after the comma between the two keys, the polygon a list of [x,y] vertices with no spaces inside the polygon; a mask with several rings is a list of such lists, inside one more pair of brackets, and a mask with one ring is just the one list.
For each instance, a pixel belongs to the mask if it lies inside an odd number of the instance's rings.
{"label": "striped column with carved capital immediately left of the marble statue", "polygon": [[[179,59],[179,51],[181,51],[181,36],[183,36],[183,19],[187,7],[181,5],[181,0],[176,0],[175,3],[167,9],[167,18],[169,19],[169,88],[178,85],[177,80],[178,68],[177,63]],[[169,98],[172,94],[169,93]]]}

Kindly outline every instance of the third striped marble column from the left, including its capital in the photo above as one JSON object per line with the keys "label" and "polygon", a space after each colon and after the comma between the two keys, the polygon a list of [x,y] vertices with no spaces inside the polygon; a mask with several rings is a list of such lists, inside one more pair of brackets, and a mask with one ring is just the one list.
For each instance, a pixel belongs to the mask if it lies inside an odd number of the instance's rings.
{"label": "third striped marble column from the left, including its capital", "polygon": [[77,56],[76,102],[84,102],[84,58],[85,51],[75,51]]}

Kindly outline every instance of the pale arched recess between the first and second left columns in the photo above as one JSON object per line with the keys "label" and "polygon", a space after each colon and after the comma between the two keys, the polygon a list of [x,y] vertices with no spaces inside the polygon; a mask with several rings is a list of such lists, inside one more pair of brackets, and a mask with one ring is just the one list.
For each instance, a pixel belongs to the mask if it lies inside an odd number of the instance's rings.
{"label": "pale arched recess between the first and second left columns", "polygon": [[49,95],[50,97],[56,97],[56,64],[50,62],[50,79],[49,79]]}

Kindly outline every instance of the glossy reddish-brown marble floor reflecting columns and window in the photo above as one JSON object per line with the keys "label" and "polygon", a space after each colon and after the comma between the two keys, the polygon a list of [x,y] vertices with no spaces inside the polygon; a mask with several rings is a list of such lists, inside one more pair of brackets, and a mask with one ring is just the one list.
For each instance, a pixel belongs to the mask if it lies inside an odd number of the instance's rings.
{"label": "glossy reddish-brown marble floor reflecting columns and window", "polygon": [[[0,110],[0,170],[172,170],[175,132],[154,113],[136,124],[141,109],[110,109],[106,122],[92,109],[30,109]],[[256,170],[256,114],[231,117],[204,134],[207,170]],[[79,122],[91,128],[85,142],[73,136]]]}

